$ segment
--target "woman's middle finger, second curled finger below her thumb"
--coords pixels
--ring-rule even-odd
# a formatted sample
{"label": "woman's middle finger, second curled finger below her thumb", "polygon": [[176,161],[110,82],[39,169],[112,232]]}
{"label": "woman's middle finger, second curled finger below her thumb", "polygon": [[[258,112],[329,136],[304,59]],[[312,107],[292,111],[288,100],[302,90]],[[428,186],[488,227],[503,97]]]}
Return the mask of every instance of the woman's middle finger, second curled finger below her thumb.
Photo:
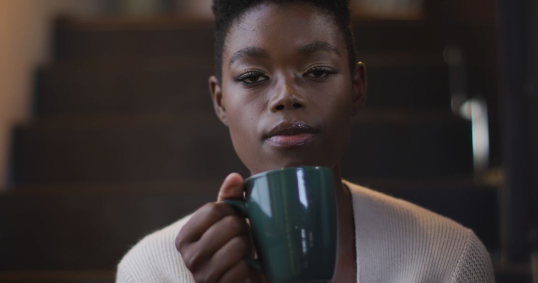
{"label": "woman's middle finger, second curled finger below her thumb", "polygon": [[[202,258],[213,256],[215,252],[237,236],[244,236],[246,239],[246,231],[246,221],[243,218],[227,216],[221,219],[196,242],[195,246],[200,251],[199,256]],[[250,242],[247,243],[250,244]]]}

